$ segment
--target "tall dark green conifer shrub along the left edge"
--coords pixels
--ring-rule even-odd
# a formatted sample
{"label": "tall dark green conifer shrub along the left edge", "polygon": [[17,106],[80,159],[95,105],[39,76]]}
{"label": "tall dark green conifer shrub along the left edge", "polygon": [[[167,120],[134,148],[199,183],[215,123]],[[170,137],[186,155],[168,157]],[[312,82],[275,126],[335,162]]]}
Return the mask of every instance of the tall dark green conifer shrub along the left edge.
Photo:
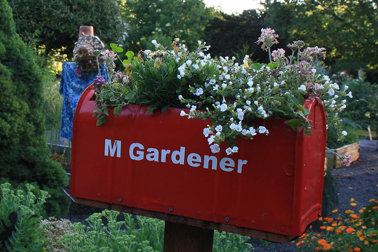
{"label": "tall dark green conifer shrub along the left edge", "polygon": [[36,182],[48,191],[47,215],[68,212],[60,190],[68,178],[62,166],[49,159],[42,112],[41,70],[33,53],[15,33],[11,9],[0,0],[0,178],[16,186]]}

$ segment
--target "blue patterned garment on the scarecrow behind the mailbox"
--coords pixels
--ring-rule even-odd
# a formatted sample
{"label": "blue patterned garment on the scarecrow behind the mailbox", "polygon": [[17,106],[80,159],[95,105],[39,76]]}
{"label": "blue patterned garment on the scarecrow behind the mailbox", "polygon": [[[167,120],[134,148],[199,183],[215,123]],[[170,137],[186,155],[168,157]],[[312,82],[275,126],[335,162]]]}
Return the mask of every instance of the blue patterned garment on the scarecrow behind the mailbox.
{"label": "blue patterned garment on the scarecrow behind the mailbox", "polygon": [[[100,67],[100,72],[105,81],[108,80],[105,64]],[[78,75],[81,75],[80,77]],[[72,124],[77,101],[81,93],[98,76],[96,72],[79,72],[76,62],[63,64],[62,75],[60,76],[59,93],[63,95],[62,119],[60,121],[60,136],[72,141]]]}

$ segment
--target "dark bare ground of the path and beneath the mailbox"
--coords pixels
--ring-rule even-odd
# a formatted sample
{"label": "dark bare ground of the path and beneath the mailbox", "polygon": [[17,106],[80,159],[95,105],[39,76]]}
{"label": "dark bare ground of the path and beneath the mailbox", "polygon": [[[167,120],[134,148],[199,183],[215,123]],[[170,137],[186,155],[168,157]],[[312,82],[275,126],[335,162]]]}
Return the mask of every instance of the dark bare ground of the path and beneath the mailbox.
{"label": "dark bare ground of the path and beneath the mailbox", "polygon": [[[336,185],[336,194],[338,196],[338,204],[331,205],[330,209],[338,209],[339,213],[344,213],[345,210],[353,209],[358,211],[361,207],[370,204],[369,199],[378,198],[378,152],[360,150],[360,157],[350,166],[343,166],[341,168],[330,169],[327,171],[328,175],[334,177],[333,184]],[[332,175],[330,175],[332,174]],[[350,206],[350,199],[355,199],[356,207]],[[72,210],[72,222],[84,222],[91,213],[99,212],[99,208],[91,208],[85,206],[75,206]],[[332,214],[329,211],[329,217],[336,217],[337,214]],[[325,217],[325,216],[324,216]],[[70,218],[70,216],[65,216]],[[271,243],[256,238],[251,238],[249,241],[253,244],[255,252],[293,252],[297,251],[293,243]]]}

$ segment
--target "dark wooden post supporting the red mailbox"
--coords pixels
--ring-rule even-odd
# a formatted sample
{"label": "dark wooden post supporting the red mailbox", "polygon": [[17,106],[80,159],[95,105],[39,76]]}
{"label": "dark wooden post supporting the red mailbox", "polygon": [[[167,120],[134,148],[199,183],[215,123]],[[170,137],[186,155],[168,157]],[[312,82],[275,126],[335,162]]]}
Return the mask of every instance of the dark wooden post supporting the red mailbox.
{"label": "dark wooden post supporting the red mailbox", "polygon": [[212,252],[214,230],[165,221],[164,252]]}

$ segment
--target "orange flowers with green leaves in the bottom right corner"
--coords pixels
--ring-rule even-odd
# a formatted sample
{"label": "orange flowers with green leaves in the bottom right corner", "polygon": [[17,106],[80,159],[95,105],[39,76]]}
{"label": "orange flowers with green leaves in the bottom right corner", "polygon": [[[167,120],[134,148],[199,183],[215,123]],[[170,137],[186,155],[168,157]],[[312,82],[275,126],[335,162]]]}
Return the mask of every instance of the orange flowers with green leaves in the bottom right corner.
{"label": "orange flowers with green leaves in the bottom right corner", "polygon": [[[350,205],[356,207],[353,198]],[[295,243],[303,251],[376,251],[378,249],[378,201],[370,199],[369,206],[358,211],[346,210],[347,217],[319,218],[322,232],[308,232]],[[337,213],[338,210],[332,211]]]}

